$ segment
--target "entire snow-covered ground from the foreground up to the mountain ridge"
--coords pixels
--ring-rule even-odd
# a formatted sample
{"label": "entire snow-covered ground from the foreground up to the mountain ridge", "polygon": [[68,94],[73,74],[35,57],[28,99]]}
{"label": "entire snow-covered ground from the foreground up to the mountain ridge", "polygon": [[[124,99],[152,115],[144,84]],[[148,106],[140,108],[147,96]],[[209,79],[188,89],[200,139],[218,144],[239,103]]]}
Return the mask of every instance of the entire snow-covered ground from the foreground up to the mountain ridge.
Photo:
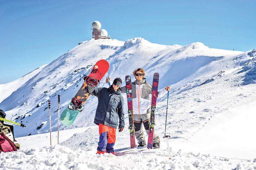
{"label": "entire snow-covered ground from the foreground up to the mountain ridge", "polygon": [[[20,81],[8,91],[0,108],[15,126],[21,150],[0,154],[7,169],[256,169],[256,50],[248,52],[153,44],[142,38],[127,41],[89,40]],[[125,129],[117,132],[115,154],[96,155],[98,127],[93,124],[97,98],[90,97],[74,124],[61,125],[60,145],[49,146],[48,100],[52,101],[52,127],[57,130],[57,94],[62,112],[94,63],[106,59],[106,76],[113,80],[142,67],[146,80],[160,75],[159,89],[172,85],[167,112],[171,136],[168,159],[165,129],[167,96],[158,99],[155,133],[160,149],[129,148],[127,103]],[[108,87],[103,78],[100,87]],[[17,80],[16,80],[17,81]],[[12,83],[12,82],[11,82]],[[5,87],[5,88],[3,88]],[[124,99],[126,96],[124,95]],[[27,136],[29,135],[29,136]],[[56,132],[53,133],[56,143]],[[255,159],[255,160],[254,160]],[[129,160],[129,161],[128,161]],[[254,162],[253,162],[254,161]]]}

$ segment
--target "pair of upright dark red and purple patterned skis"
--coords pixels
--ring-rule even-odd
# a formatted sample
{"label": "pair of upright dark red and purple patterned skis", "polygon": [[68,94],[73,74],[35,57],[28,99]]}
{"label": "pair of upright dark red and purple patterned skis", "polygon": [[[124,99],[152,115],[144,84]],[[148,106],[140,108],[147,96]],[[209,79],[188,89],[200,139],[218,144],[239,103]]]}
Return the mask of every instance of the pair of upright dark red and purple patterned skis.
{"label": "pair of upright dark red and purple patterned skis", "polygon": [[[159,74],[155,73],[153,77],[153,86],[152,86],[151,114],[150,114],[150,124],[149,124],[148,144],[147,144],[148,149],[153,148],[153,135],[154,135],[154,125],[155,125],[155,110],[156,110],[156,104],[157,104],[158,81],[159,81]],[[133,108],[132,108],[132,81],[130,76],[125,76],[125,84],[126,84],[128,114],[129,114],[130,141],[131,141],[131,148],[134,148],[136,147],[136,145],[135,145]]]}

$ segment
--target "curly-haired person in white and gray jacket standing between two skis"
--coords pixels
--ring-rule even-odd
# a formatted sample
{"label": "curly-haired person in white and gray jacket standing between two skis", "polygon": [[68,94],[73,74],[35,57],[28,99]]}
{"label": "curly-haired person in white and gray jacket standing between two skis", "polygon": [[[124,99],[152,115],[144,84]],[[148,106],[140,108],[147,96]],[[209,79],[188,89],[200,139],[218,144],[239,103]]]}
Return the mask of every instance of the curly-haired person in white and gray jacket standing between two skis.
{"label": "curly-haired person in white and gray jacket standing between two skis", "polygon": [[[148,134],[149,123],[150,123],[150,106],[152,94],[152,85],[146,83],[144,79],[145,71],[142,68],[138,68],[133,71],[133,75],[136,80],[132,82],[132,105],[133,105],[133,121],[135,127],[135,137],[138,140],[138,146],[145,146],[146,140],[142,130],[142,124]],[[126,87],[120,87],[122,93],[126,93]],[[167,91],[171,89],[170,86],[166,86],[162,90],[158,91],[158,97],[164,96]],[[153,137],[153,147],[160,147],[160,139],[154,134]]]}

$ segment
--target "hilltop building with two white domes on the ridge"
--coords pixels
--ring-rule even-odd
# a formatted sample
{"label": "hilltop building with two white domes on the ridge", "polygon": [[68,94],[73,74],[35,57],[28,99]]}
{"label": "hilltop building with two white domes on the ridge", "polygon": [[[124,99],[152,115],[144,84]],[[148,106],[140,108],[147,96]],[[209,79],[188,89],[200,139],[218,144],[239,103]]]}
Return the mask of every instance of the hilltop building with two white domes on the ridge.
{"label": "hilltop building with two white domes on the ridge", "polygon": [[101,23],[99,21],[94,21],[93,24],[91,24],[91,27],[93,29],[93,39],[110,39],[110,36],[108,36],[108,31],[106,29],[101,29]]}

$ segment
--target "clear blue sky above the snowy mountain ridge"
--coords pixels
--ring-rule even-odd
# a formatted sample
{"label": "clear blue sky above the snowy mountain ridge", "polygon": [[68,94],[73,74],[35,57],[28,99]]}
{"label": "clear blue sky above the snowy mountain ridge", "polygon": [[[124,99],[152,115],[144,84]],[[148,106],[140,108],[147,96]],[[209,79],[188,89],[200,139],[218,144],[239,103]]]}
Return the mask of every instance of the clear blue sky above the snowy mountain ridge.
{"label": "clear blue sky above the snowy mountain ridge", "polygon": [[113,39],[211,48],[256,48],[255,0],[0,0],[0,84],[91,38],[98,20]]}

